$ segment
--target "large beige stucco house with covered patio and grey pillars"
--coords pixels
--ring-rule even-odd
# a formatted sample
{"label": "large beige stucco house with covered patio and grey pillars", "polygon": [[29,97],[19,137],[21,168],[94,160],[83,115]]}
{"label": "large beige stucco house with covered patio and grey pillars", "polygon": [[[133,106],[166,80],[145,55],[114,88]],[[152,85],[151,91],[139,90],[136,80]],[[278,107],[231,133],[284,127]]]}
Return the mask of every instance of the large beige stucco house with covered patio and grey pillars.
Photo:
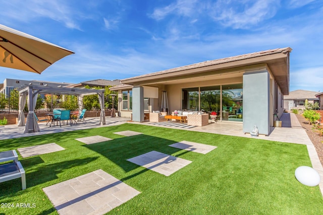
{"label": "large beige stucco house with covered patio and grey pillars", "polygon": [[259,134],[267,135],[289,94],[291,51],[287,47],[209,60],[123,79],[123,85],[110,89],[118,91],[121,116],[132,114],[133,121],[160,110],[166,91],[170,112],[216,111],[220,120],[230,121],[243,110],[243,131],[250,133],[256,125]]}

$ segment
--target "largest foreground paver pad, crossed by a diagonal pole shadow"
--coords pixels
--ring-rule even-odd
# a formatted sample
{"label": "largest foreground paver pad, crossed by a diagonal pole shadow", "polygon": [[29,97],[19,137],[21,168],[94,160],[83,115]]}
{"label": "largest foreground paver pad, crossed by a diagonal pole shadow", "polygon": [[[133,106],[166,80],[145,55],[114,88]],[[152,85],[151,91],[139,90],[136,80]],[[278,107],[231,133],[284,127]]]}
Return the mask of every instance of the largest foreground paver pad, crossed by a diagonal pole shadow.
{"label": "largest foreground paver pad, crossed by a diagonal pole shadow", "polygon": [[61,215],[104,214],[140,193],[101,169],[42,190]]}

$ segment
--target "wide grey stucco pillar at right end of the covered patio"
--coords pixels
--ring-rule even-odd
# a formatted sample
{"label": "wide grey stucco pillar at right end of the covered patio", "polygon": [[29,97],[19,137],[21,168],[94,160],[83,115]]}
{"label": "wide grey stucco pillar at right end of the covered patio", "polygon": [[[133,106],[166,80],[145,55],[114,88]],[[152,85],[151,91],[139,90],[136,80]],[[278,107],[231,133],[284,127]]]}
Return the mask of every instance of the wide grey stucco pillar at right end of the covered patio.
{"label": "wide grey stucco pillar at right end of the covered patio", "polygon": [[270,132],[270,75],[267,70],[243,75],[243,132],[254,125],[259,134]]}

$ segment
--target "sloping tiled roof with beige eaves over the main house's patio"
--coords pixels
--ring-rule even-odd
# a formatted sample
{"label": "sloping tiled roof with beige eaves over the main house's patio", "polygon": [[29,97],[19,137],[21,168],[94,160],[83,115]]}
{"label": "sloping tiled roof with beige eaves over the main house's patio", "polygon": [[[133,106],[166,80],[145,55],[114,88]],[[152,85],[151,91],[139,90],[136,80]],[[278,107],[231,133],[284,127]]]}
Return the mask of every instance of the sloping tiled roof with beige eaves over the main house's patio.
{"label": "sloping tiled roof with beige eaves over the main house's patio", "polygon": [[289,52],[292,49],[278,48],[266,51],[259,51],[250,54],[243,54],[233,57],[226,57],[216,60],[194,63],[191,65],[157,71],[146,75],[123,79],[123,84],[146,84],[155,81],[163,83],[167,80],[178,79],[179,77],[196,76],[212,72],[221,73],[224,69],[237,68],[248,65],[265,63],[274,75],[284,95],[289,93]]}

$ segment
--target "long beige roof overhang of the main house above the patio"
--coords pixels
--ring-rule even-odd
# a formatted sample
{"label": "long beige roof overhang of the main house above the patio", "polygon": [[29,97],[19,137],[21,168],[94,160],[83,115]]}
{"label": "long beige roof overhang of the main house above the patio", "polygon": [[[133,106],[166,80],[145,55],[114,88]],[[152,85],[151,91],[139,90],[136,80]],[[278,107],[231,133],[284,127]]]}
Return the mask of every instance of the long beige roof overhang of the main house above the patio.
{"label": "long beige roof overhang of the main house above the patio", "polygon": [[[290,48],[279,49],[277,52],[263,52],[265,54],[242,55],[246,57],[231,57],[214,61],[205,61],[188,66],[168,69],[121,80],[123,84],[153,85],[153,84],[173,84],[174,82],[185,82],[189,79],[199,79],[204,77],[230,75],[243,73],[255,67],[269,68],[277,84],[280,86],[283,95],[289,94],[289,52]],[[258,52],[259,53],[259,52]],[[187,81],[188,82],[188,81]]]}

